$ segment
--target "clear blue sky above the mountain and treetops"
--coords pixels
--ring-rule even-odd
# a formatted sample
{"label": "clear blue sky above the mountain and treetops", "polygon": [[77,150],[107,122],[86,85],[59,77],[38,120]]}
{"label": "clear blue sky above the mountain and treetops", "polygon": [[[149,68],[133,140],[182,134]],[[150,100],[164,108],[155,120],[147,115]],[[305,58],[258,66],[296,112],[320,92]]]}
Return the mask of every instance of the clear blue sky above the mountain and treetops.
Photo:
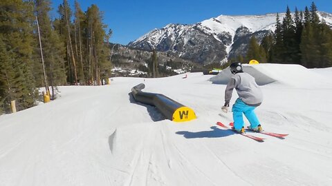
{"label": "clear blue sky above the mountain and treetops", "polygon": [[[52,17],[57,17],[57,7],[63,0],[53,2]],[[74,0],[68,0],[71,7]],[[224,15],[247,15],[293,12],[295,7],[304,10],[312,0],[78,0],[83,11],[91,4],[104,12],[104,23],[113,30],[112,43],[127,45],[130,41],[154,28],[163,28],[169,23],[192,24]],[[332,13],[332,0],[314,1],[318,10]]]}

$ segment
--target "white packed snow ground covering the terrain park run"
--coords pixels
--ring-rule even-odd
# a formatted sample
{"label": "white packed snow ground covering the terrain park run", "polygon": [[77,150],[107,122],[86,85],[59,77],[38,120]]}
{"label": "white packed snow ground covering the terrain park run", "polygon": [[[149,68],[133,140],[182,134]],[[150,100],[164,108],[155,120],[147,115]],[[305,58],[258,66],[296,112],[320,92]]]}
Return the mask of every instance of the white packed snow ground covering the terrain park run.
{"label": "white packed snow ground covering the terrain park run", "polygon": [[[332,185],[332,68],[244,70],[264,92],[261,125],[285,139],[250,133],[266,138],[258,143],[215,125],[232,122],[221,111],[228,69],[186,79],[117,77],[59,87],[55,101],[0,116],[0,185]],[[174,123],[137,103],[131,88],[139,83],[197,118]]]}

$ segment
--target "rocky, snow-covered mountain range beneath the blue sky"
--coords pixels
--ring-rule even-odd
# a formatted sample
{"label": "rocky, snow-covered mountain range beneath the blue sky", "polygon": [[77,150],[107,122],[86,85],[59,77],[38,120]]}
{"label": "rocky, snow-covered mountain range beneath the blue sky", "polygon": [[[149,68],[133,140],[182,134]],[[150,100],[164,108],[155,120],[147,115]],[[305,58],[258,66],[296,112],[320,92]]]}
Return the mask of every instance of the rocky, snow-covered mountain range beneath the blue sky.
{"label": "rocky, snow-covered mountain range beneath the blue sky", "polygon": [[[318,12],[320,19],[332,25],[332,14]],[[285,13],[279,14],[280,20]],[[261,41],[275,31],[277,14],[227,16],[221,15],[194,25],[169,24],[154,29],[129,43],[133,48],[172,52],[198,63],[223,62],[245,54],[252,35]]]}

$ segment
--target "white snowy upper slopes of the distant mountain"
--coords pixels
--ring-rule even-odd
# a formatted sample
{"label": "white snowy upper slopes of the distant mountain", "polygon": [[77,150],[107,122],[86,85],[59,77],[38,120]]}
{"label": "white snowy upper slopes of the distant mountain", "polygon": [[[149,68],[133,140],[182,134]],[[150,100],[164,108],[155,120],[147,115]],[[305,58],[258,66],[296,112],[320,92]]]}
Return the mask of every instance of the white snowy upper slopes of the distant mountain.
{"label": "white snowy upper slopes of the distant mountain", "polygon": [[[320,19],[324,19],[326,23],[332,25],[332,15],[326,12],[317,12]],[[282,20],[285,17],[285,13],[279,13],[279,19]],[[292,14],[293,15],[293,14]],[[293,15],[294,16],[294,15]],[[243,15],[243,16],[228,16],[220,15],[216,18],[207,19],[196,23],[194,25],[181,25],[181,24],[168,24],[164,28],[154,29],[142,37],[133,41],[133,44],[139,43],[143,40],[148,40],[151,45],[156,45],[162,41],[163,37],[171,37],[172,41],[175,41],[176,35],[181,35],[181,32],[187,32],[188,30],[198,27],[214,36],[227,32],[234,38],[235,31],[240,27],[246,27],[251,32],[257,32],[259,30],[275,30],[277,14],[264,14],[264,15]],[[174,29],[174,27],[176,29]],[[216,37],[216,40],[220,39]]]}

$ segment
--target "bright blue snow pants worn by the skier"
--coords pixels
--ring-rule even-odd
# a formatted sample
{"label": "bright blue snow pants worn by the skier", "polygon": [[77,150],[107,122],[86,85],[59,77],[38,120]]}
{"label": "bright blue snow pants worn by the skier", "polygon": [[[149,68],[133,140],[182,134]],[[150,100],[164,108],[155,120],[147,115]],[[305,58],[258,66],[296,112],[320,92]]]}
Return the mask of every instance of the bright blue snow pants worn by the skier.
{"label": "bright blue snow pants worn by the skier", "polygon": [[235,101],[232,107],[235,130],[240,130],[244,125],[242,113],[248,119],[250,127],[255,128],[259,125],[259,120],[254,112],[255,108],[256,107],[246,105],[241,99]]}

